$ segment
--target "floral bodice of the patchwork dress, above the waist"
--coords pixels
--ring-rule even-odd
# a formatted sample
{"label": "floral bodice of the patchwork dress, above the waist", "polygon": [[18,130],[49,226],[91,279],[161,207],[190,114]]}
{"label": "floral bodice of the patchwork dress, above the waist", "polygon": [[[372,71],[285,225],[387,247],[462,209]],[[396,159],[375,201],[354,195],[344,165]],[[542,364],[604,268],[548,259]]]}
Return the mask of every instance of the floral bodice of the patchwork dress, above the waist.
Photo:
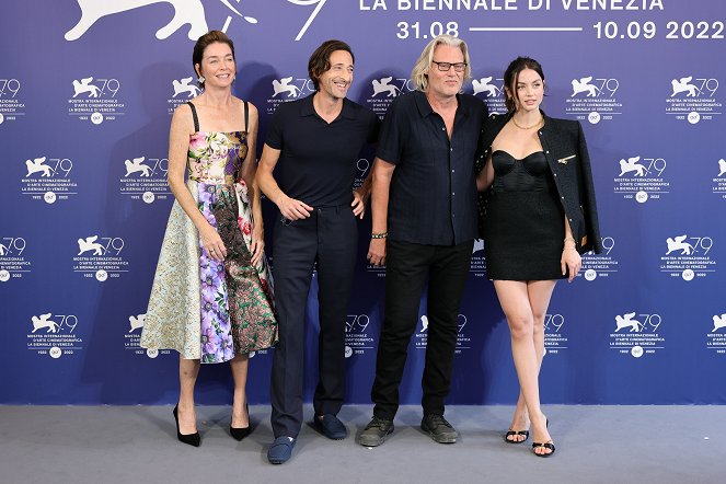
{"label": "floral bodice of the patchwork dress, above the waist", "polygon": [[245,131],[197,131],[189,136],[189,180],[231,185],[241,177],[247,155]]}

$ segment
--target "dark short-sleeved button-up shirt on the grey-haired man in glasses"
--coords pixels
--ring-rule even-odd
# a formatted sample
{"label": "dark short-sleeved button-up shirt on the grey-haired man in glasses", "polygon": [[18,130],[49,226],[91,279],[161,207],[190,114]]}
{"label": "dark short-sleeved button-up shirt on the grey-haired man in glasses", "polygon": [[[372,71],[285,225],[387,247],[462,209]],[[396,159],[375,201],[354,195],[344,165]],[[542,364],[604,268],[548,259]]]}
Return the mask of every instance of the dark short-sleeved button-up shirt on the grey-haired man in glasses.
{"label": "dark short-sleeved button-up shirt on the grey-haired man in glasses", "polygon": [[389,194],[389,239],[454,245],[475,239],[474,161],[486,105],[458,94],[451,140],[443,118],[420,91],[389,106],[376,155],[395,164]]}

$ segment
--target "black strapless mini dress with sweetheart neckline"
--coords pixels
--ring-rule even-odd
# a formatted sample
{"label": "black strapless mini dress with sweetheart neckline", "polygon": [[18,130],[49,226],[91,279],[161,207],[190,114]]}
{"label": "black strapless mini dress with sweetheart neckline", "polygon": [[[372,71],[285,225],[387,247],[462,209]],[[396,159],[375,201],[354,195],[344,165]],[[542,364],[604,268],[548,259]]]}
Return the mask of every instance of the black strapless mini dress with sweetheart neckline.
{"label": "black strapless mini dress with sweetheart neckline", "polygon": [[493,280],[561,279],[565,214],[542,151],[522,160],[492,153],[486,207],[486,272]]}

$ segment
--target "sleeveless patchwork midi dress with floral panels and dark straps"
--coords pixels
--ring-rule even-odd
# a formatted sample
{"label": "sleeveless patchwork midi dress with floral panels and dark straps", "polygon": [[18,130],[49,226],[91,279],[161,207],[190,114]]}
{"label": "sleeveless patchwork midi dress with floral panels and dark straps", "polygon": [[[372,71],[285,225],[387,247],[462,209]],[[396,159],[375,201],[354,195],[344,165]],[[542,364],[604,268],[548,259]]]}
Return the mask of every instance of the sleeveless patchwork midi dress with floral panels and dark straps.
{"label": "sleeveless patchwork midi dress with floral panels and dark straps", "polygon": [[[227,257],[209,257],[199,232],[175,200],[159,255],[141,347],[171,348],[182,358],[221,362],[277,343],[273,279],[265,257],[251,263],[252,212],[240,176],[246,131],[189,136],[186,186],[217,229]],[[244,104],[247,126],[247,104]]]}

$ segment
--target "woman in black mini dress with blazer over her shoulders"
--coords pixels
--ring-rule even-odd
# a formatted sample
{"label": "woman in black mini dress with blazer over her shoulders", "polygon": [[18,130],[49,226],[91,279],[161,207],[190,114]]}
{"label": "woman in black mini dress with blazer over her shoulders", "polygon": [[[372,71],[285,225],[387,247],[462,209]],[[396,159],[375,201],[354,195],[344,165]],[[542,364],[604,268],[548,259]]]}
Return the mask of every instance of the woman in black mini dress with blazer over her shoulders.
{"label": "woman in black mini dress with blazer over her shoulders", "polygon": [[540,408],[539,372],[544,355],[544,315],[557,279],[569,281],[580,254],[601,251],[587,146],[578,122],[540,111],[544,74],[528,57],[504,74],[506,115],[484,125],[484,169],[476,184],[486,197],[486,268],[511,334],[519,399],[505,435],[521,443],[532,427],[534,454],[555,451]]}

